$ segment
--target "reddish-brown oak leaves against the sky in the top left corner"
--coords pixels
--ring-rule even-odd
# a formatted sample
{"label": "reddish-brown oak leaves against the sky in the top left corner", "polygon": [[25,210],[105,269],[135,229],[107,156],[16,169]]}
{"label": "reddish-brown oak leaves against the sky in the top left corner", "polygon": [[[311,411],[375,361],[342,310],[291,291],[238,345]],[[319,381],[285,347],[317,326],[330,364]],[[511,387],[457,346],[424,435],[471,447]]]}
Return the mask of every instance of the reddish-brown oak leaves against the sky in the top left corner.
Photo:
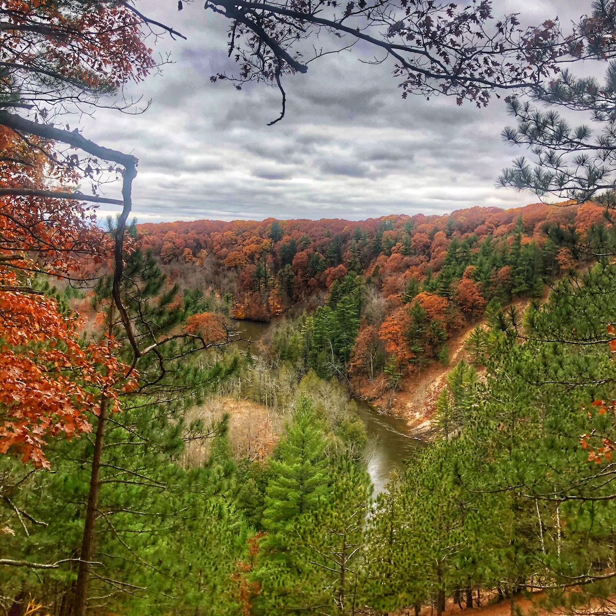
{"label": "reddish-brown oak leaves against the sky in the top left corner", "polygon": [[58,2],[9,0],[2,8],[3,19],[14,26],[2,29],[2,52],[22,97],[36,97],[43,89],[55,103],[59,98],[53,94],[68,88],[81,91],[83,102],[89,100],[86,93],[110,94],[139,81],[154,65],[139,18],[121,3],[87,2],[79,10],[62,10]]}

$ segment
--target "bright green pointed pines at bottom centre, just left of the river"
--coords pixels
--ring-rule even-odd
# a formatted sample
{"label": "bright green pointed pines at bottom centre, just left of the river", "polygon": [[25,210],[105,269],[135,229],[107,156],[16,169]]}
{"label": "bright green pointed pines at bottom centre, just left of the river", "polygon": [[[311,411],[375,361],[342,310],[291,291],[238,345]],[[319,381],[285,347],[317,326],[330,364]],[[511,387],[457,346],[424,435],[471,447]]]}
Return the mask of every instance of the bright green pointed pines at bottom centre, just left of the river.
{"label": "bright green pointed pines at bottom centre, just left of the river", "polygon": [[351,614],[363,598],[370,479],[352,447],[328,454],[327,429],[301,395],[269,463],[255,614]]}

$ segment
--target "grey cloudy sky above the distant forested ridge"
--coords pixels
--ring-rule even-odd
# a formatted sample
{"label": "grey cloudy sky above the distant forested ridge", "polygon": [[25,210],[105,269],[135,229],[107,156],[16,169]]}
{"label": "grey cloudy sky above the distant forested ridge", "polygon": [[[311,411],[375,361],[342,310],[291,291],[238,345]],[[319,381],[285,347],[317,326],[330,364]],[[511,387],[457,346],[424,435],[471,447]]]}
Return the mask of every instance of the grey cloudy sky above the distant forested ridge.
{"label": "grey cloudy sky above the distant forested ridge", "polygon": [[[590,0],[494,5],[495,13],[520,12],[532,23],[555,15],[567,22],[590,10]],[[97,110],[79,127],[87,138],[139,158],[133,187],[139,222],[361,220],[537,201],[532,193],[495,187],[500,170],[524,154],[501,140],[512,123],[502,100],[482,109],[471,102],[458,107],[450,97],[403,100],[392,64],[368,65],[351,51],[288,76],[285,119],[267,126],[280,112],[276,89],[237,91],[209,79],[233,70],[228,20],[200,3],[181,12],[172,0],[140,0],[137,7],[187,41],[162,36],[155,55],[169,53],[172,63],[126,89],[142,106],[151,100],[147,110]],[[115,197],[116,188],[107,194]],[[100,208],[101,216],[113,213],[113,206]]]}

